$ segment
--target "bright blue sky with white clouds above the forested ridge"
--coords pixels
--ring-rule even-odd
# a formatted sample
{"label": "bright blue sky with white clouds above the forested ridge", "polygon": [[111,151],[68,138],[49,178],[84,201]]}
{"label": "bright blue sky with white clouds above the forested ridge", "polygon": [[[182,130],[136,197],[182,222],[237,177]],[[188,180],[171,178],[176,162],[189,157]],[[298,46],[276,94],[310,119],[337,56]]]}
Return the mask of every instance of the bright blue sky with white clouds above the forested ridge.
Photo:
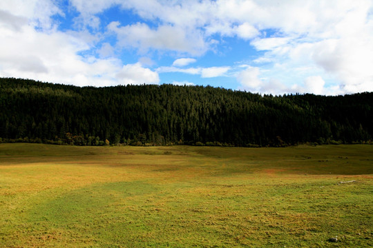
{"label": "bright blue sky with white clouds above the forested ridge", "polygon": [[0,76],[373,92],[373,0],[0,1]]}

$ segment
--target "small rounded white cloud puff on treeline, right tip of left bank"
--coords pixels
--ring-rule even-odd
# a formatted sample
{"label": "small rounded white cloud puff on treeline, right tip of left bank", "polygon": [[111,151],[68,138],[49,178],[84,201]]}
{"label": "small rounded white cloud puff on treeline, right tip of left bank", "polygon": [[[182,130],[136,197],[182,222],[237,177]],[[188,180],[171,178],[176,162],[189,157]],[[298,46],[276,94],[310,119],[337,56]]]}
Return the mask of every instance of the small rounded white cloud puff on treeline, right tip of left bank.
{"label": "small rounded white cloud puff on treeline, right tip of left bank", "polygon": [[149,68],[143,68],[141,63],[124,65],[122,70],[116,74],[117,79],[121,84],[157,84],[160,83],[160,78],[157,72],[153,72]]}

